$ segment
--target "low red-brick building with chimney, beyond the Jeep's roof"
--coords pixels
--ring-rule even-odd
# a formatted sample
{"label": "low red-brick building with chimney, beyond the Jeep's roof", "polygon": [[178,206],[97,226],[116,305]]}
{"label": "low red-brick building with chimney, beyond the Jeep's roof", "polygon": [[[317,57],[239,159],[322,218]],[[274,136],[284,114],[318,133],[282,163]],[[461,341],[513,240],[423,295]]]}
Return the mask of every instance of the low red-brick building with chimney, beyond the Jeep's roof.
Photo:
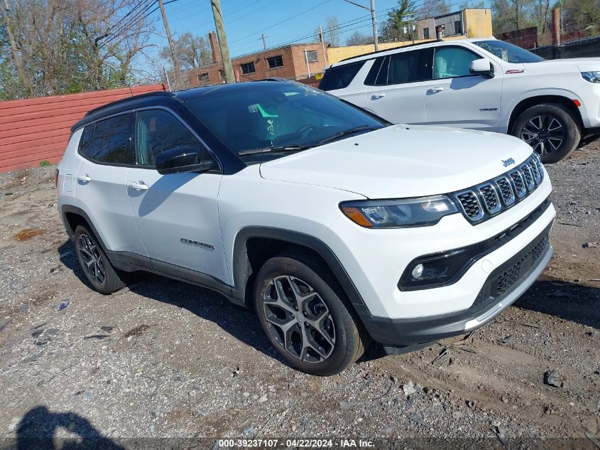
{"label": "low red-brick building with chimney, beyond the Jeep's roof", "polygon": [[[186,70],[182,77],[187,87],[215,85],[224,82],[225,75],[217,34],[208,35],[213,63]],[[236,80],[261,80],[278,77],[299,80],[321,73],[327,66],[327,45],[299,43],[239,56],[231,60]]]}

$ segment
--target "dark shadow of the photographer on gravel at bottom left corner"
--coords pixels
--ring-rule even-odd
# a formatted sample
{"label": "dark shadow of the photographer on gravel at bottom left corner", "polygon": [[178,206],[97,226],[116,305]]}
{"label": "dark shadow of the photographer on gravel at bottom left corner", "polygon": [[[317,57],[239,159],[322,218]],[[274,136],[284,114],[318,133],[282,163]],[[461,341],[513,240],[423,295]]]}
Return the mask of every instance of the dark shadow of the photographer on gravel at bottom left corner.
{"label": "dark shadow of the photographer on gravel at bottom left corner", "polygon": [[[68,431],[68,438],[56,436],[59,429]],[[61,435],[65,436],[64,430]],[[18,450],[124,450],[92,427],[87,419],[74,412],[50,412],[45,406],[30,409],[16,429]]]}

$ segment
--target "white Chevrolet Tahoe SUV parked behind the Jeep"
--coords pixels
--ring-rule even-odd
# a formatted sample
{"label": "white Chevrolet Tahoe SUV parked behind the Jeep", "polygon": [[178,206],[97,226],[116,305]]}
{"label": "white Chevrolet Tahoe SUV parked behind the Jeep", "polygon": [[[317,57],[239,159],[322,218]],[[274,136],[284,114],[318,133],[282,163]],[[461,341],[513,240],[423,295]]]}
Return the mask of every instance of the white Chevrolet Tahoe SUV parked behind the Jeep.
{"label": "white Chevrolet Tahoe SUV parked behind the Jeep", "polygon": [[493,38],[349,58],[326,70],[319,87],[395,124],[512,134],[544,163],[600,133],[600,58],[544,60]]}

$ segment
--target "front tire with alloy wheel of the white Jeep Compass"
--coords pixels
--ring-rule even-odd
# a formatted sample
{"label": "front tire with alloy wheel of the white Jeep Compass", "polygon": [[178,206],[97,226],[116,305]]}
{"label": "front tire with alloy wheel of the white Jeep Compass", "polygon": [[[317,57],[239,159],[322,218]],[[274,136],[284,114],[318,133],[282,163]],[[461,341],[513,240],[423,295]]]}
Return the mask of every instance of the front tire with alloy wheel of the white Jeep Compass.
{"label": "front tire with alloy wheel of the white Jeep Compass", "polygon": [[[368,346],[369,337],[341,286],[311,255],[285,252],[269,259],[256,276],[254,302],[273,347],[302,372],[335,375]],[[284,336],[288,336],[287,346]]]}

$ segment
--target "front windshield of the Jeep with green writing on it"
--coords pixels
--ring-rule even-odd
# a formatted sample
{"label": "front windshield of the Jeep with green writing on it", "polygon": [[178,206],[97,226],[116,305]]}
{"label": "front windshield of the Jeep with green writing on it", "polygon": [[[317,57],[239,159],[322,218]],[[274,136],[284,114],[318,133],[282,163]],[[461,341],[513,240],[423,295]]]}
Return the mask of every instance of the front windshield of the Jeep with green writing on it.
{"label": "front windshield of the Jeep with green writing on it", "polygon": [[[386,124],[307,85],[248,82],[215,89],[187,107],[244,162],[273,159]],[[253,152],[251,150],[263,149]],[[276,154],[278,152],[278,154]]]}

